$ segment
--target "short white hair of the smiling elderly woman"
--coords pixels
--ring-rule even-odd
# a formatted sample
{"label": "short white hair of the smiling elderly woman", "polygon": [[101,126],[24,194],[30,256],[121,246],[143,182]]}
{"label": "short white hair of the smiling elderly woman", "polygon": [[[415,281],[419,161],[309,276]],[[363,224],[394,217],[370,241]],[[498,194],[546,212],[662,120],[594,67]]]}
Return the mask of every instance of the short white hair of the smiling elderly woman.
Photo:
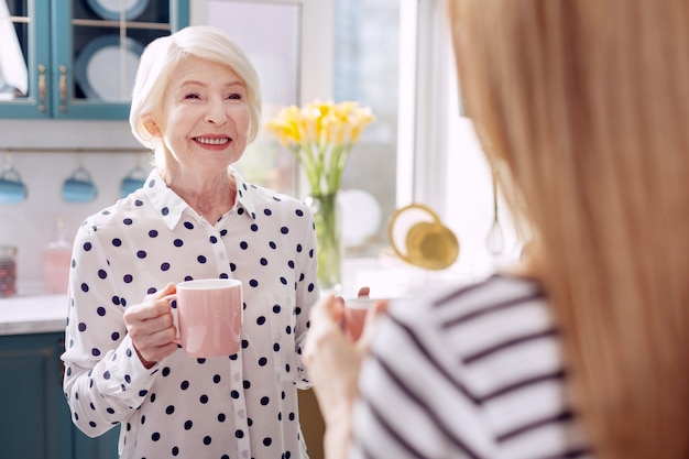
{"label": "short white hair of the smiling elderly woman", "polygon": [[167,83],[176,64],[185,56],[219,63],[230,67],[247,87],[250,125],[248,142],[252,142],[261,125],[261,87],[255,68],[241,50],[222,31],[195,25],[151,42],[141,55],[134,79],[129,123],[132,133],[144,146],[156,149],[160,140],[152,135],[144,123],[160,109]]}

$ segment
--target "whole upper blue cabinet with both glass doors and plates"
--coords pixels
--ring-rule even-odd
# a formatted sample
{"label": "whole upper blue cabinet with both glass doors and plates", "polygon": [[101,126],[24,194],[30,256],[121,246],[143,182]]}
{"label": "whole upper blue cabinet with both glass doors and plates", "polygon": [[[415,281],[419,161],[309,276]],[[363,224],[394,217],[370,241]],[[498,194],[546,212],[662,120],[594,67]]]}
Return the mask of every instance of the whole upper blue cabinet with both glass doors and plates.
{"label": "whole upper blue cabinet with both glass doors and plates", "polygon": [[143,47],[188,25],[189,0],[113,4],[7,1],[11,25],[0,11],[0,118],[127,119]]}

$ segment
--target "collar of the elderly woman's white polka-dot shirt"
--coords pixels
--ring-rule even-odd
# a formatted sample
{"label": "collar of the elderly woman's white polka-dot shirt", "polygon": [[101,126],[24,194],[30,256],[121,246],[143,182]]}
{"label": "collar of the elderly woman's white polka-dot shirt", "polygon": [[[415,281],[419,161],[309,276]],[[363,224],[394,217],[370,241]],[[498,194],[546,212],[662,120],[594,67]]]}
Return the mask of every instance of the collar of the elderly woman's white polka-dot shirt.
{"label": "collar of the elderly woman's white polka-dot shirt", "polygon": [[[237,196],[232,210],[236,211],[238,207],[243,207],[245,210],[243,214],[249,218],[255,219],[254,186],[244,182],[244,178],[234,168],[230,168],[230,172],[237,183]],[[167,186],[157,170],[153,170],[149,174],[143,192],[171,230],[177,226],[184,211],[190,208],[184,199]]]}

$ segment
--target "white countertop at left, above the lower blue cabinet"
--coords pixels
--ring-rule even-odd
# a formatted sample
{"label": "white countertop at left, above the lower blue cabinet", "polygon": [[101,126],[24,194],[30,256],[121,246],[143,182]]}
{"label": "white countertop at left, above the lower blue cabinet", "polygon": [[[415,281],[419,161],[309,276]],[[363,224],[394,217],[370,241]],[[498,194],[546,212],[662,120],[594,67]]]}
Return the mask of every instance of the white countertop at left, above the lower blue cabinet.
{"label": "white countertop at left, above the lower blue cabinet", "polygon": [[0,335],[64,331],[67,295],[15,295],[0,298]]}

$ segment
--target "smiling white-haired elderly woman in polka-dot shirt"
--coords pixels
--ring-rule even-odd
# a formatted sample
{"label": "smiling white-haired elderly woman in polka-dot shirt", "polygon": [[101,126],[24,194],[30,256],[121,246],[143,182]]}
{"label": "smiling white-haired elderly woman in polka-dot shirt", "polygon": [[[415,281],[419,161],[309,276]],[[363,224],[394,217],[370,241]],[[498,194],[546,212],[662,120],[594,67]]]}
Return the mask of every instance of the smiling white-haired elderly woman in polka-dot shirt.
{"label": "smiling white-haired elderly woman in polka-dot shirt", "polygon": [[[296,392],[318,297],[314,222],[231,167],[260,113],[253,66],[216,29],[184,29],[141,56],[130,123],[156,167],[78,231],[63,354],[74,423],[89,436],[121,424],[123,458],[307,457]],[[188,357],[168,296],[228,277],[243,283],[241,351]]]}

